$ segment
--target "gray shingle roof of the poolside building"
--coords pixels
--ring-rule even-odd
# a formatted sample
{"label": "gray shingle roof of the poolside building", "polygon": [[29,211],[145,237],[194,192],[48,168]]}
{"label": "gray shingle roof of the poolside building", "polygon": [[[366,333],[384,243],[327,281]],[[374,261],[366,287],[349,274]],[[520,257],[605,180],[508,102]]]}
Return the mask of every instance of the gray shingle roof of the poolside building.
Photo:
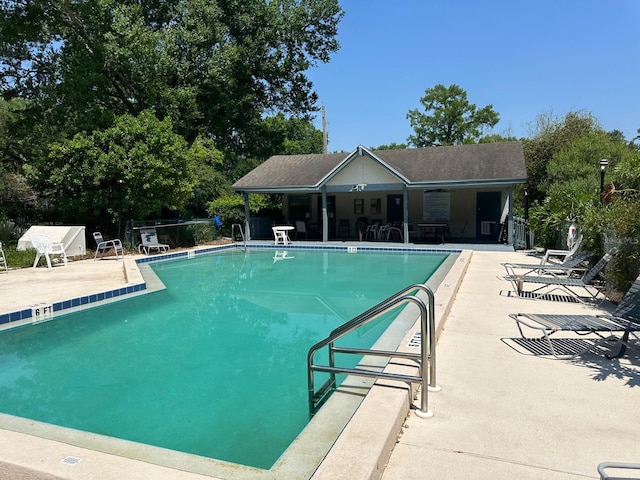
{"label": "gray shingle roof of the poolside building", "polygon": [[[360,147],[359,147],[360,148]],[[238,180],[237,191],[318,189],[335,169],[358,154],[275,155]],[[527,177],[521,142],[450,147],[367,150],[408,180],[409,186],[524,183]]]}

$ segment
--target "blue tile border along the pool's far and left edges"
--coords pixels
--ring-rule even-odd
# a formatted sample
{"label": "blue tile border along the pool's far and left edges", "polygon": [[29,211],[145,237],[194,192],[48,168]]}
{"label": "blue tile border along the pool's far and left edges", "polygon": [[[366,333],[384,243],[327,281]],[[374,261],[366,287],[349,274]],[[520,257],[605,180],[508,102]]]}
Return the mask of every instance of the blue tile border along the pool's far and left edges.
{"label": "blue tile border along the pool's far and left edges", "polygon": [[[389,246],[372,246],[372,245],[274,245],[273,243],[256,243],[248,244],[246,247],[241,243],[232,243],[228,245],[219,245],[207,248],[201,248],[198,250],[183,250],[174,253],[165,253],[159,255],[153,255],[148,257],[142,257],[136,259],[136,264],[155,263],[167,260],[176,260],[183,258],[194,258],[202,255],[209,255],[211,253],[225,251],[225,250],[325,250],[336,252],[407,252],[407,253],[444,253],[444,254],[456,254],[462,252],[461,249],[452,248],[424,248],[424,247],[389,247]],[[81,297],[72,298],[69,300],[63,300],[60,302],[54,302],[53,313],[60,313],[63,310],[70,308],[77,308],[82,306],[89,306],[93,303],[101,302],[103,300],[109,300],[116,297],[139,293],[146,290],[146,282],[138,283],[135,285],[127,285],[126,287],[120,287],[113,290],[107,290],[105,292],[95,293],[91,295],[83,295]],[[35,305],[34,305],[35,306]],[[10,313],[0,314],[0,325],[6,325],[9,323],[17,322],[20,320],[30,320],[33,317],[32,308],[26,308],[24,310],[18,310]]]}

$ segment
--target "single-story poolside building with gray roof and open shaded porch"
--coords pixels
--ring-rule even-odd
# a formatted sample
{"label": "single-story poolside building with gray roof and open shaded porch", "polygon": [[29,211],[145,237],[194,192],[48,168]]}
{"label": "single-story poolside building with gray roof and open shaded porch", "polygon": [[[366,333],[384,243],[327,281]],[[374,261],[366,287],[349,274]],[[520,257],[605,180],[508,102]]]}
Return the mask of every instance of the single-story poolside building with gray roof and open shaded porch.
{"label": "single-story poolside building with gray roof and open shaded porch", "polygon": [[[409,242],[513,243],[513,188],[526,181],[521,142],[275,155],[238,180],[245,238],[272,238],[274,219],[251,218],[249,195],[281,194],[278,224],[305,236]],[[368,231],[366,227],[369,227]]]}

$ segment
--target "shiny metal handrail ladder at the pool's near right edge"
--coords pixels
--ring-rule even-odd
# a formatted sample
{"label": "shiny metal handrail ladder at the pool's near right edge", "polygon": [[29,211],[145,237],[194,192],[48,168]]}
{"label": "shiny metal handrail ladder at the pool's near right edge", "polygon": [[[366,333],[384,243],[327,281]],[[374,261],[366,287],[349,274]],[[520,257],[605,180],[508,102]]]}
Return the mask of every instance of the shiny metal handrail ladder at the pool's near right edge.
{"label": "shiny metal handrail ladder at the pool's near right edge", "polygon": [[[415,295],[416,290],[421,290],[427,295],[428,306],[424,301]],[[413,293],[412,293],[413,292]],[[334,342],[353,332],[359,327],[379,318],[381,315],[401,306],[413,303],[420,310],[420,353],[394,352],[384,350],[369,350],[361,348],[337,347]],[[317,365],[314,363],[314,355],[322,348],[329,350],[329,365]],[[377,370],[367,370],[364,368],[346,368],[335,365],[335,354],[346,353],[355,355],[373,355],[389,358],[407,358],[415,360],[418,364],[419,375],[403,375],[397,373],[381,372]],[[329,379],[318,389],[315,388],[314,372],[329,373]],[[318,409],[336,390],[336,373],[343,373],[356,376],[387,378],[412,383],[420,383],[422,395],[420,407],[415,407],[416,414],[422,418],[429,418],[433,413],[429,410],[428,391],[438,391],[440,387],[436,384],[436,342],[435,342],[435,315],[434,315],[434,294],[426,285],[413,284],[386,300],[380,302],[357,317],[349,320],[331,332],[331,334],[316,343],[309,349],[307,354],[307,375],[309,393],[309,416],[313,417]]]}

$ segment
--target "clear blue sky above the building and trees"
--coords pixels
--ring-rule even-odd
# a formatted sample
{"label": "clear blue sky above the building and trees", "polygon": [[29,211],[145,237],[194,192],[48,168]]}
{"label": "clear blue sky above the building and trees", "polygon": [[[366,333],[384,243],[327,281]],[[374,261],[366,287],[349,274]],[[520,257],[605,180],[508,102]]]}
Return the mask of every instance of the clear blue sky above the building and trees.
{"label": "clear blue sky above the building and trees", "polygon": [[[406,143],[425,90],[457,84],[500,115],[493,133],[535,132],[540,115],[593,114],[640,128],[638,0],[342,0],[340,50],[308,74],[329,152]],[[314,122],[322,128],[321,115]]]}

